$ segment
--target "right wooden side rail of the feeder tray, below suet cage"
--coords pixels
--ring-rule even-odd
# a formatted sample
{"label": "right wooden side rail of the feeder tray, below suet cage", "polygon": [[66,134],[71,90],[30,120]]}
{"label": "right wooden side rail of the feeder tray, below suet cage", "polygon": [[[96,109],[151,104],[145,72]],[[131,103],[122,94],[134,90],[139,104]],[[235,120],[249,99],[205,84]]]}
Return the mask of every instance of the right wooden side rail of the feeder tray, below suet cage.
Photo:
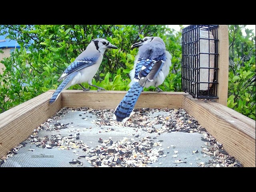
{"label": "right wooden side rail of the feeder tray, below suet cage", "polygon": [[255,121],[215,102],[184,95],[182,108],[223,144],[244,167],[255,167]]}

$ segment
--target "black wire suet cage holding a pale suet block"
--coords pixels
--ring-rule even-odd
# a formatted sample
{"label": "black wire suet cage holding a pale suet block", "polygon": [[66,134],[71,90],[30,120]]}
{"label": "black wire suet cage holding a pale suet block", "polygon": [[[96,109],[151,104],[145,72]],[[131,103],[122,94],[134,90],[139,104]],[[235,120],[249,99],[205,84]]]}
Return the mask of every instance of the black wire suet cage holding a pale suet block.
{"label": "black wire suet cage holding a pale suet block", "polygon": [[214,99],[218,85],[218,25],[182,29],[182,90]]}

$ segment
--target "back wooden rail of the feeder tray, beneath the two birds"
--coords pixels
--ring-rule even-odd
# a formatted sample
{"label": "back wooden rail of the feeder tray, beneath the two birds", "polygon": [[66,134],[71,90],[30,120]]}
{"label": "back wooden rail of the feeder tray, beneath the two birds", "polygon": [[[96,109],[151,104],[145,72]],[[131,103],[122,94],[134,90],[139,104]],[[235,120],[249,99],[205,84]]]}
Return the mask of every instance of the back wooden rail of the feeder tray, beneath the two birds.
{"label": "back wooden rail of the feeder tray, beneath the two birds", "polygon": [[[62,107],[115,109],[127,91],[62,91]],[[142,92],[136,108],[181,108],[184,92]]]}

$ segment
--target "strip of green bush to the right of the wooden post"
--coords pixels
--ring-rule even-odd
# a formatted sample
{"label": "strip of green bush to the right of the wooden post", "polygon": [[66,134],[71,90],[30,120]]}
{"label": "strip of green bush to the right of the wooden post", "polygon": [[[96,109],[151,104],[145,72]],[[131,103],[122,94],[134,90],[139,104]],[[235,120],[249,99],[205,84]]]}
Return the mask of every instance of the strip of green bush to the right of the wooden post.
{"label": "strip of green bush to the right of the wooden post", "polygon": [[228,107],[255,120],[255,34],[229,26]]}

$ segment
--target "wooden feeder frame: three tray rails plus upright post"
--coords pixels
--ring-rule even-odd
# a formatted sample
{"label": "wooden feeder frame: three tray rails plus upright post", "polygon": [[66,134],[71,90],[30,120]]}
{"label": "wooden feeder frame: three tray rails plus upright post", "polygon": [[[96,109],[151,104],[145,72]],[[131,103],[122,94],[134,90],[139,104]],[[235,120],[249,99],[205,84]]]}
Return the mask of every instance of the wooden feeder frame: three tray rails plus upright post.
{"label": "wooden feeder frame: three tray rails plus upright post", "polygon": [[[142,92],[135,108],[182,108],[222,143],[244,167],[255,167],[255,121],[228,108],[228,26],[218,26],[218,99],[193,98],[185,92]],[[49,90],[0,114],[0,157],[26,140],[62,107],[114,109],[126,91],[65,90],[53,104]]]}

